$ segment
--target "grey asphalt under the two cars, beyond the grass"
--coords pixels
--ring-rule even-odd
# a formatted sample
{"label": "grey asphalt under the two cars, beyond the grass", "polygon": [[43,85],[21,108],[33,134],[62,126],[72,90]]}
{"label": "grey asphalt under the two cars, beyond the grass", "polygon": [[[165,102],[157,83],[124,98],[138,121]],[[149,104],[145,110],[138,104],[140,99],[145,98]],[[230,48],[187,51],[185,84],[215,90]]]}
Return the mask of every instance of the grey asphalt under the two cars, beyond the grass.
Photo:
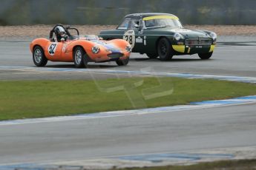
{"label": "grey asphalt under the two cars, beyond the grass", "polygon": [[[34,67],[32,55],[27,42],[0,42],[0,67]],[[205,75],[256,76],[255,42],[227,43],[217,47],[211,60],[202,61],[197,55],[174,56],[171,61],[148,59],[145,55],[131,54],[131,60],[126,67],[117,67],[115,62],[89,65],[91,69],[113,69],[151,72],[181,72]],[[74,68],[73,63],[48,62],[47,68]],[[27,70],[1,70],[0,79],[80,79],[91,78],[85,72],[72,73],[42,73],[27,72]],[[95,74],[99,78],[115,75]]]}

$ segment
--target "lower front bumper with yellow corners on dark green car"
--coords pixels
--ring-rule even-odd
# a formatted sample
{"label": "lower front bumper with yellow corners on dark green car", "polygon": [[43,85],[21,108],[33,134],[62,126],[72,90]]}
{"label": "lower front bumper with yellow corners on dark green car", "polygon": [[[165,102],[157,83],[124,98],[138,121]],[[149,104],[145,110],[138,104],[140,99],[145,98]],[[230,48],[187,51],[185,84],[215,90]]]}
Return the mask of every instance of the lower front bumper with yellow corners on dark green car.
{"label": "lower front bumper with yellow corners on dark green car", "polygon": [[213,52],[214,47],[215,45],[172,45],[172,49],[180,55]]}

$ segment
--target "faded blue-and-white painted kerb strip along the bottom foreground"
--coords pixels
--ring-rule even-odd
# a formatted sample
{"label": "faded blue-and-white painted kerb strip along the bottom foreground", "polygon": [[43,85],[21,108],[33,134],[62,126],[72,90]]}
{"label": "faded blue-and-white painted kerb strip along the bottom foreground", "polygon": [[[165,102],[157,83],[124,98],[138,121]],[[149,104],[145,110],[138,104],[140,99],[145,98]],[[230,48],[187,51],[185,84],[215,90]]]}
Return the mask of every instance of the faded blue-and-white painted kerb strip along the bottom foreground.
{"label": "faded blue-and-white painted kerb strip along the bottom foreground", "polygon": [[[209,150],[196,150],[180,153],[158,153],[158,154],[137,154],[137,155],[120,155],[116,157],[93,158],[88,160],[68,160],[57,161],[54,163],[18,163],[14,165],[0,166],[1,169],[113,169],[128,167],[145,167],[145,166],[168,166],[168,165],[191,165],[194,163],[211,162],[217,160],[242,160],[256,157],[255,147],[237,147],[222,148]],[[61,165],[61,166],[60,166]]]}

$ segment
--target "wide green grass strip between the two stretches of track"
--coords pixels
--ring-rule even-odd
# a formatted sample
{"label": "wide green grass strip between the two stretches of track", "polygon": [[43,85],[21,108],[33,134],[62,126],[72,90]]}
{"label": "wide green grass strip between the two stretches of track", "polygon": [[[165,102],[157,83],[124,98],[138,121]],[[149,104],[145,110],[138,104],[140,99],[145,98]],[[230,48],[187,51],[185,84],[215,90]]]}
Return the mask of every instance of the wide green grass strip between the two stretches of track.
{"label": "wide green grass strip between the two stretches of track", "polygon": [[256,95],[253,84],[184,78],[0,81],[0,120],[187,104]]}

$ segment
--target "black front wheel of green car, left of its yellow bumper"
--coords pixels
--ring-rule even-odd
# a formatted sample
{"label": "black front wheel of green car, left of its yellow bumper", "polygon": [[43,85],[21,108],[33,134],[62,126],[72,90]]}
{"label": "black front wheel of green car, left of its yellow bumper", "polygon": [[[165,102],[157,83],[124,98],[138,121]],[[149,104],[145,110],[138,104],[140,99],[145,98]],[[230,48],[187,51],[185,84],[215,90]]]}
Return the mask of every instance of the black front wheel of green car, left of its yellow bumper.
{"label": "black front wheel of green car, left of its yellow bumper", "polygon": [[161,38],[157,44],[157,53],[161,61],[171,60],[174,55],[174,51],[171,48],[171,43],[167,38]]}

